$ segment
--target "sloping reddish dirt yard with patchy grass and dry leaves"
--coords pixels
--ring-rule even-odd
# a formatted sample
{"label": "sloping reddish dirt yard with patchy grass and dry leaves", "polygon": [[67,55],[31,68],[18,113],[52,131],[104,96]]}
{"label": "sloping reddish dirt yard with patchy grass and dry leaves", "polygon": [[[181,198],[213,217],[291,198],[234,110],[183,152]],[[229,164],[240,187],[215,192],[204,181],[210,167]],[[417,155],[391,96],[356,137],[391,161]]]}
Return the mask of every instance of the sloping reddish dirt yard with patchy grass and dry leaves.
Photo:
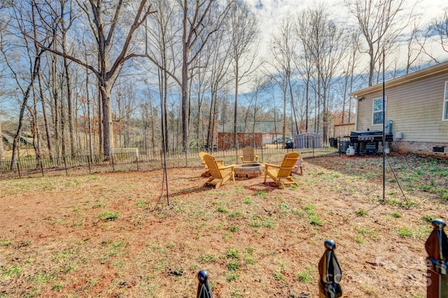
{"label": "sloping reddish dirt yard with patchy grass and dry leaves", "polygon": [[343,297],[426,297],[448,162],[391,157],[383,203],[381,164],[305,159],[285,189],[169,169],[169,205],[162,171],[0,180],[0,297],[196,297],[200,269],[214,297],[318,297],[325,239]]}

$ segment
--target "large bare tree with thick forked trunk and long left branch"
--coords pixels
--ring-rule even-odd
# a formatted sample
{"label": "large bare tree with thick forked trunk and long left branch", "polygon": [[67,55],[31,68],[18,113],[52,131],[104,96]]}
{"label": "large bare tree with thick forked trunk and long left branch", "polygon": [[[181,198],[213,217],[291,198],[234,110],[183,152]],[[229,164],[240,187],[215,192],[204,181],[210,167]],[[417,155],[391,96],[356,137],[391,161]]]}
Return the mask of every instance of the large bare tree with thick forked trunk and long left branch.
{"label": "large bare tree with thick forked trunk and long left branch", "polygon": [[[137,29],[144,24],[146,17],[155,13],[151,8],[148,0],[141,0],[134,10],[133,19],[129,15],[123,13],[124,0],[118,0],[118,3],[109,3],[104,0],[89,0],[88,2],[78,5],[83,10],[87,22],[90,27],[90,34],[94,37],[98,51],[98,65],[95,66],[87,61],[83,61],[81,57],[69,55],[66,52],[55,50],[53,48],[41,47],[50,52],[54,52],[66,59],[80,64],[90,69],[97,76],[99,92],[102,99],[102,115],[103,115],[103,150],[105,159],[109,159],[113,153],[113,123],[111,108],[111,90],[113,81],[120,73],[123,64],[133,57],[144,57],[144,54],[137,54],[131,50],[131,41]],[[130,9],[126,9],[129,12]],[[129,20],[132,20],[129,22]],[[118,24],[123,24],[120,30],[117,30]],[[125,28],[124,25],[128,27]],[[123,34],[123,32],[126,32]],[[113,55],[113,49],[118,49],[118,54]],[[112,60],[112,61],[111,61]]]}

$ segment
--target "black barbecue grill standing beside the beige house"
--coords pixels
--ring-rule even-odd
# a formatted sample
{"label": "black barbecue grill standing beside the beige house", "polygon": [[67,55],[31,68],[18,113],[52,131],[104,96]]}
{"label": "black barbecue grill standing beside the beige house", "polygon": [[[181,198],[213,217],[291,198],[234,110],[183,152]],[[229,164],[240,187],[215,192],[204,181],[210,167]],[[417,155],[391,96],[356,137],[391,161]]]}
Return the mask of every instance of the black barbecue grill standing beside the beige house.
{"label": "black barbecue grill standing beside the beige house", "polygon": [[[393,134],[386,134],[386,142],[391,141],[393,141]],[[382,152],[383,131],[365,130],[365,131],[351,132],[350,143],[351,146],[355,148],[356,155],[362,155],[362,154],[372,155],[377,152]]]}

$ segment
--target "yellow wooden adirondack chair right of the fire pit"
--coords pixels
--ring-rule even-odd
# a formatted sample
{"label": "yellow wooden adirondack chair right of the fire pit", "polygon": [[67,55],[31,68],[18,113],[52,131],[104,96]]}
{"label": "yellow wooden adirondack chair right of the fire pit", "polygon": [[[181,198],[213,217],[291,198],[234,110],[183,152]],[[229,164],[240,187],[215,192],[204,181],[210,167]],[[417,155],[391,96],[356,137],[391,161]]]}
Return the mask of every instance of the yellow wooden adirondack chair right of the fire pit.
{"label": "yellow wooden adirondack chair right of the fire pit", "polygon": [[[300,155],[297,152],[290,152],[283,157],[283,162],[281,162],[281,165],[276,164],[264,164],[265,165],[265,181],[263,183],[266,183],[266,178],[269,176],[274,180],[277,185],[284,187],[286,185],[294,184],[297,185],[297,182],[294,181],[293,177],[291,176],[291,172],[295,168],[295,163],[297,162],[297,159],[299,159]],[[269,169],[270,168],[270,169]]]}

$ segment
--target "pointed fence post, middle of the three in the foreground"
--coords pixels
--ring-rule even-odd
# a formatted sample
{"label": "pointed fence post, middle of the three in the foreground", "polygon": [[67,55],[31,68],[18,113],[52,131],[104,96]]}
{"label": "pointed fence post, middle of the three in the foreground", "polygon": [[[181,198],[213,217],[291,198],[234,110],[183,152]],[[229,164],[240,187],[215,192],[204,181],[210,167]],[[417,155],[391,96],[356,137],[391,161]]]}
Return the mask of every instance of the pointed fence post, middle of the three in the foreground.
{"label": "pointed fence post, middle of the three in the foreground", "polygon": [[325,253],[319,261],[318,269],[321,276],[319,286],[319,298],[337,298],[342,296],[342,288],[339,282],[342,278],[342,270],[337,262],[335,248],[336,243],[332,240],[325,240]]}

